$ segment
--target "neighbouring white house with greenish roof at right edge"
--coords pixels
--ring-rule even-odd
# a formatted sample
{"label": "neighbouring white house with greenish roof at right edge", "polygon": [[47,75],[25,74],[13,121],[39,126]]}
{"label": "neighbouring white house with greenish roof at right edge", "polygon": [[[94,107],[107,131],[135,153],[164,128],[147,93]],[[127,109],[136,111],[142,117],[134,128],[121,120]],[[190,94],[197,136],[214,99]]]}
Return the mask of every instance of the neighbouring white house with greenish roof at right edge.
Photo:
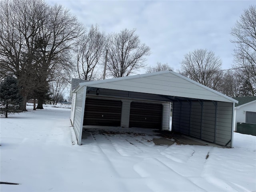
{"label": "neighbouring white house with greenish roof at right edge", "polygon": [[234,97],[238,100],[235,104],[234,131],[236,123],[254,123],[256,124],[256,96],[252,97]]}

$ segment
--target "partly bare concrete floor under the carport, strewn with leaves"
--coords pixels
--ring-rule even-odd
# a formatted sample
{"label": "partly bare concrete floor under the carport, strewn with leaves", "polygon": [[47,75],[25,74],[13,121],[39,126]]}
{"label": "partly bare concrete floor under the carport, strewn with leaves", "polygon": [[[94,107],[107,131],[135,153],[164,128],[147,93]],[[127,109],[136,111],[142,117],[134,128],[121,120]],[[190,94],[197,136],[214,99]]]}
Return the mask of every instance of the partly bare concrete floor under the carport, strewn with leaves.
{"label": "partly bare concrete floor under the carport, strewn with leaves", "polygon": [[82,134],[82,144],[90,143],[93,140],[97,142],[104,140],[104,138],[111,137],[111,139],[125,139],[137,142],[144,142],[154,145],[172,145],[174,143],[180,145],[200,145],[200,146],[216,146],[218,145],[204,142],[202,140],[184,136],[181,134],[174,134],[168,130],[147,129],[147,128],[122,128],[110,126],[84,126]]}

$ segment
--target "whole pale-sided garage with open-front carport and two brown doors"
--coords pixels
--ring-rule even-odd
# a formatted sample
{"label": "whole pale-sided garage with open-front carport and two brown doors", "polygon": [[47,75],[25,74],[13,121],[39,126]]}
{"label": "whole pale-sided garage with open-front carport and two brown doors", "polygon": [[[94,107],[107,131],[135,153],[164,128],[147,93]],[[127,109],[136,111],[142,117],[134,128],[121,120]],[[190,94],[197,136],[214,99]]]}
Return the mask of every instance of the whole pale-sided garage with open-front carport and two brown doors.
{"label": "whole pale-sided garage with open-front carport and two brown doors", "polygon": [[232,147],[238,101],[173,71],[80,82],[71,93],[71,122],[78,144],[85,125],[179,132]]}

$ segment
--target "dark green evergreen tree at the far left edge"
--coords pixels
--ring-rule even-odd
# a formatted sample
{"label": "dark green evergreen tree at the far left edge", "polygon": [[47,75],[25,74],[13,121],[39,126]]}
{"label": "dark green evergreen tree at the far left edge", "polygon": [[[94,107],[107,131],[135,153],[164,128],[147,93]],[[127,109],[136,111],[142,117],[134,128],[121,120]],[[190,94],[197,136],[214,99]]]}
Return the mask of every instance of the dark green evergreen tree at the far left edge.
{"label": "dark green evergreen tree at the far left edge", "polygon": [[22,102],[22,96],[19,92],[17,79],[7,76],[4,82],[0,84],[0,113],[7,114],[21,112],[18,110]]}

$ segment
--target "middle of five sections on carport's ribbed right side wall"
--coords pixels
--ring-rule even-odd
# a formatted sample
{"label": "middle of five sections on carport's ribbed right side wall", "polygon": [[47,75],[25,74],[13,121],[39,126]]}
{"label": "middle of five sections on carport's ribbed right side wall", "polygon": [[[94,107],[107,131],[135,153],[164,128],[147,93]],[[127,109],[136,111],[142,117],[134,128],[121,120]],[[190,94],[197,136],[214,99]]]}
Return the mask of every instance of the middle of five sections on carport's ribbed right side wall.
{"label": "middle of five sections on carport's ribbed right side wall", "polygon": [[190,122],[190,136],[194,138],[201,138],[202,126],[202,104],[198,101],[191,103],[191,122]]}

